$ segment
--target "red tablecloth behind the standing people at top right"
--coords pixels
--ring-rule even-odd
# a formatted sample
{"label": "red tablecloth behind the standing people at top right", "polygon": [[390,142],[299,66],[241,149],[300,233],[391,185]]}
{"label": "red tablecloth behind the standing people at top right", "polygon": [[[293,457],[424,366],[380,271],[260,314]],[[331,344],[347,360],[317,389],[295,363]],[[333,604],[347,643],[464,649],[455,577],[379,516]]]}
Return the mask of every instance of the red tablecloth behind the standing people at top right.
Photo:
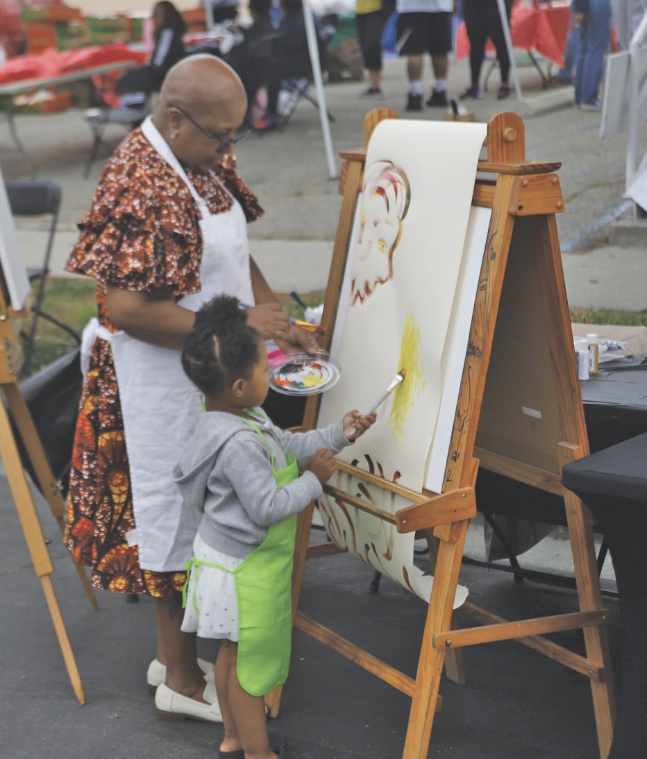
{"label": "red tablecloth behind the standing people at top right", "polygon": [[[564,65],[563,51],[569,27],[568,5],[557,5],[554,8],[513,8],[510,18],[513,47],[536,50],[539,55],[558,66]],[[489,40],[487,49],[494,52],[494,46]],[[456,58],[467,58],[468,55],[469,39],[463,21],[456,36]]]}

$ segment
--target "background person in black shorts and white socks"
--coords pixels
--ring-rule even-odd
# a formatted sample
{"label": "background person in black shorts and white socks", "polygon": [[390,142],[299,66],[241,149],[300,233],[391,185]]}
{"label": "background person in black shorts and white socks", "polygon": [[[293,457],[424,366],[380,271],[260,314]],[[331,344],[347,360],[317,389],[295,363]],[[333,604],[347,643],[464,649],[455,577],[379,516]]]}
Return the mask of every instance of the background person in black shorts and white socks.
{"label": "background person in black shorts and white socks", "polygon": [[397,0],[396,49],[406,57],[409,80],[407,111],[422,110],[424,54],[431,56],[435,83],[427,105],[447,108],[447,73],[452,49],[452,14],[455,0]]}

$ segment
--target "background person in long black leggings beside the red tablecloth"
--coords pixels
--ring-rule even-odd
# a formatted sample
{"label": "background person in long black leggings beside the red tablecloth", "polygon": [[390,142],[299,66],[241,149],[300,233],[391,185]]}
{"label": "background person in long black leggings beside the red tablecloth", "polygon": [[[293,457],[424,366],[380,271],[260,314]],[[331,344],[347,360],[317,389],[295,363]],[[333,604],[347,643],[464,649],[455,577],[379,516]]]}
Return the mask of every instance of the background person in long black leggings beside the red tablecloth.
{"label": "background person in long black leggings beside the red tablecloth", "polygon": [[[513,0],[505,0],[506,15],[510,26],[510,14],[512,13]],[[503,24],[499,14],[497,0],[462,0],[462,17],[465,20],[465,29],[469,39],[469,71],[472,83],[460,96],[461,99],[480,98],[481,66],[485,58],[485,43],[488,37],[492,40],[494,49],[497,51],[497,61],[501,72],[501,84],[497,92],[497,98],[503,100],[510,97],[508,77],[510,77],[510,55],[506,36],[503,33]]]}

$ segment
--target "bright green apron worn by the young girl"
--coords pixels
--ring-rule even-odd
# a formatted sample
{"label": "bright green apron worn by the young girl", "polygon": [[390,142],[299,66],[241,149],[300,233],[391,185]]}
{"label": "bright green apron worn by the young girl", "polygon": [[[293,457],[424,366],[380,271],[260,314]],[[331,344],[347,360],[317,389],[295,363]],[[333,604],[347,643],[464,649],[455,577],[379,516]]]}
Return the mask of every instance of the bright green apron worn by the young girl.
{"label": "bright green apron worn by the young girl", "polygon": [[[274,481],[283,487],[298,477],[298,465],[286,454],[288,465],[274,468],[270,443],[258,427],[245,424],[264,439],[270,449]],[[185,570],[210,566],[234,575],[238,597],[238,661],[236,672],[241,687],[253,696],[264,696],[288,677],[292,647],[292,562],[295,551],[297,517],[293,515],[270,524],[267,537],[233,570],[200,562],[193,557]],[[185,606],[186,588],[185,584]],[[195,603],[195,600],[194,600]],[[199,612],[196,606],[196,610]]]}

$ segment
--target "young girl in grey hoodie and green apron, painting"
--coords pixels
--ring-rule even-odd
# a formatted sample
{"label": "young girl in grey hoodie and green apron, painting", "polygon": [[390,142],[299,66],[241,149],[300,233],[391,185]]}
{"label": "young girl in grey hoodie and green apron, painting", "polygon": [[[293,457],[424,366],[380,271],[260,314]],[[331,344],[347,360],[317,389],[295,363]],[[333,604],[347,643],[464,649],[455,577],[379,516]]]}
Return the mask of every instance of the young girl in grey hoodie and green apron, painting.
{"label": "young girl in grey hoodie and green apron, painting", "polygon": [[258,408],[270,387],[265,343],[236,298],[198,311],[182,365],[207,411],[174,471],[183,529],[195,535],[182,629],[222,639],[219,757],[286,757],[284,747],[270,747],[263,697],[288,674],[296,514],[323,493],[333,451],[364,433],[375,414],[351,411],[307,433],[272,424]]}

